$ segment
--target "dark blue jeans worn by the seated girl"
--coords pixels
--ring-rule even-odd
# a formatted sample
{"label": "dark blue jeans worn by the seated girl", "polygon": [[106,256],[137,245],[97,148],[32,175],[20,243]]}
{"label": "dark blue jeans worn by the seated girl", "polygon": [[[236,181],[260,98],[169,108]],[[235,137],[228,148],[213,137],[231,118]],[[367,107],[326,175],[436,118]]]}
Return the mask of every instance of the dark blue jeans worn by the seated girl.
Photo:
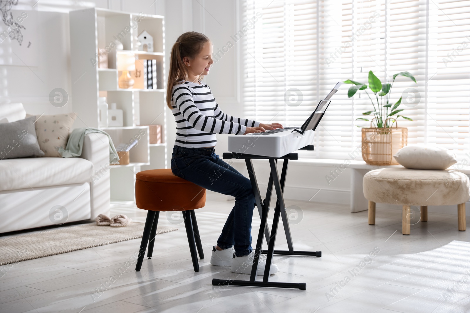
{"label": "dark blue jeans worn by the seated girl", "polygon": [[235,246],[237,257],[249,254],[251,219],[255,196],[250,179],[219,159],[214,148],[185,148],[175,145],[172,172],[205,189],[235,197],[235,206],[228,214],[217,245],[222,249]]}

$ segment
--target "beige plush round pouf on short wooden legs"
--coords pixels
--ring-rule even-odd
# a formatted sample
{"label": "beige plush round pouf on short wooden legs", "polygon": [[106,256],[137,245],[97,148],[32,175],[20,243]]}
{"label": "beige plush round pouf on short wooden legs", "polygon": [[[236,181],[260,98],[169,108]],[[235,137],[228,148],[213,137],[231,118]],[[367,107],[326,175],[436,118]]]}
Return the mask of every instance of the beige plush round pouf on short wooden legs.
{"label": "beige plush round pouf on short wooden legs", "polygon": [[428,206],[457,205],[458,228],[466,229],[465,202],[470,198],[470,180],[461,172],[379,168],[364,176],[362,186],[364,197],[369,200],[369,225],[376,221],[376,203],[403,206],[403,235],[410,233],[410,206],[420,206],[421,221],[427,221]]}

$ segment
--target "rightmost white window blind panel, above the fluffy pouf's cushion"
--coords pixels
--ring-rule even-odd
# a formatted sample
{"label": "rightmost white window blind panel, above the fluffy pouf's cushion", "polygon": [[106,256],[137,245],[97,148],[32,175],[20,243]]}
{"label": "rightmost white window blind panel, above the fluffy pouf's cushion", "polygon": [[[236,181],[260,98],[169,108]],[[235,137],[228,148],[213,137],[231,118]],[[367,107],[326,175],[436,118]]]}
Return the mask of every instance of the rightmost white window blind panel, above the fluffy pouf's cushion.
{"label": "rightmost white window blind panel, above the fluffy pouf's cushion", "polygon": [[429,13],[425,142],[465,156],[469,153],[470,1],[430,1]]}

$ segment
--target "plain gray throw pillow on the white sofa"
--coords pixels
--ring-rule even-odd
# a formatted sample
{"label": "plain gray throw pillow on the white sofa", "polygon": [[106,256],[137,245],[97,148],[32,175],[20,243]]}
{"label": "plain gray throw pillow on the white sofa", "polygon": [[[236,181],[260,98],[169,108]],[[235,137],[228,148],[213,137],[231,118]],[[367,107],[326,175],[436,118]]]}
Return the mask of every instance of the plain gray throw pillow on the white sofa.
{"label": "plain gray throw pillow on the white sofa", "polygon": [[0,160],[43,156],[34,128],[36,116],[0,123]]}

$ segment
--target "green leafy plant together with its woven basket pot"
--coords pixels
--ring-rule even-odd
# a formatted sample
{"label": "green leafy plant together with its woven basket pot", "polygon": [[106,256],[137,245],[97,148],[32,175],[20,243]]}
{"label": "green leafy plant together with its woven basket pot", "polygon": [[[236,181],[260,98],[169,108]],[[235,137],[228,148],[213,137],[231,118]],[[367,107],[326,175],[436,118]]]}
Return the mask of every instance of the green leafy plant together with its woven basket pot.
{"label": "green leafy plant together with its woven basket pot", "polygon": [[[400,72],[393,75],[392,83],[388,81],[382,84],[379,78],[369,71],[368,85],[351,79],[346,80],[345,84],[352,84],[348,90],[348,98],[351,98],[359,90],[366,92],[370,102],[372,103],[373,111],[366,111],[362,115],[373,115],[370,120],[370,127],[362,127],[362,158],[367,164],[372,165],[391,165],[398,164],[393,158],[399,149],[407,145],[408,132],[406,127],[398,127],[397,119],[402,117],[406,120],[413,121],[407,116],[400,114],[404,109],[399,108],[401,104],[401,97],[395,104],[390,102],[392,94],[392,86],[397,76],[405,76],[410,78],[416,83],[416,79],[409,72]],[[373,98],[367,90],[373,93]],[[369,119],[360,117],[357,120],[369,121]],[[395,127],[392,127],[395,123]],[[375,127],[373,127],[375,124]],[[358,126],[360,127],[360,126]]]}

